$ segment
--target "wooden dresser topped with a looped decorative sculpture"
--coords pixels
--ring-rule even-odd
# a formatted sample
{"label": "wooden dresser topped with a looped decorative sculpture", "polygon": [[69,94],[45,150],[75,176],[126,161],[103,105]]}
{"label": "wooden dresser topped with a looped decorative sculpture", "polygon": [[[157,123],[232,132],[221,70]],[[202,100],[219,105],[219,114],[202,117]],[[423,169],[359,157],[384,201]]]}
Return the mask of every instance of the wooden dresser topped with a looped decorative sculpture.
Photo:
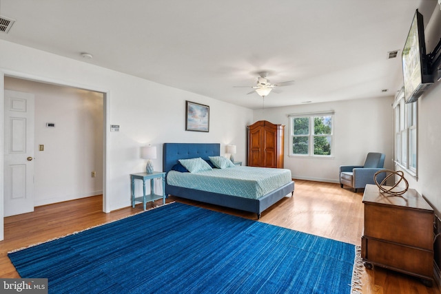
{"label": "wooden dresser topped with a looped decorative sculpture", "polygon": [[361,256],[365,266],[382,266],[433,283],[433,209],[414,189],[402,196],[366,185]]}

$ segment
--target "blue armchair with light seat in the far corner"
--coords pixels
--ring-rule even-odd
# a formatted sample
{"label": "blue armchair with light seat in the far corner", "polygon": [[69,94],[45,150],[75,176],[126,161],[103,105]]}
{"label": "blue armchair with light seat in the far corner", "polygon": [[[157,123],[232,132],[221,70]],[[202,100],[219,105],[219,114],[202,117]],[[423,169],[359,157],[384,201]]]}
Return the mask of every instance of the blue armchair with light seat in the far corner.
{"label": "blue armchair with light seat in the far corner", "polygon": [[[340,187],[347,185],[355,189],[365,188],[366,184],[375,184],[373,175],[383,169],[384,154],[369,152],[366,156],[365,165],[341,165],[340,166]],[[377,182],[381,182],[386,177],[385,173],[377,176]]]}

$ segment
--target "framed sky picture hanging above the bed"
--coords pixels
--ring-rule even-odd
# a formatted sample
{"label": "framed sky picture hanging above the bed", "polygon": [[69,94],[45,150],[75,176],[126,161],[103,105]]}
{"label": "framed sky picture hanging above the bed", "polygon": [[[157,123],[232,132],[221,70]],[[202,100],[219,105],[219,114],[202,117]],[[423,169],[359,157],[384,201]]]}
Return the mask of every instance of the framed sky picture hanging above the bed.
{"label": "framed sky picture hanging above the bed", "polygon": [[185,101],[185,131],[209,132],[209,106]]}

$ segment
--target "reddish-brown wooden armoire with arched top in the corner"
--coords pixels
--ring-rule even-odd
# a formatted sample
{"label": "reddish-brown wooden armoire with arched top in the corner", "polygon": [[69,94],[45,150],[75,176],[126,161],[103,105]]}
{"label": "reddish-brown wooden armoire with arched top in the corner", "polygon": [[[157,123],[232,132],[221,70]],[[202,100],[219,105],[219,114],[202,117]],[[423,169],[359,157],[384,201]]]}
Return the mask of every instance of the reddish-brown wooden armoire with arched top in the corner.
{"label": "reddish-brown wooden armoire with arched top in the corner", "polygon": [[248,166],[283,169],[285,125],[259,120],[248,126]]}

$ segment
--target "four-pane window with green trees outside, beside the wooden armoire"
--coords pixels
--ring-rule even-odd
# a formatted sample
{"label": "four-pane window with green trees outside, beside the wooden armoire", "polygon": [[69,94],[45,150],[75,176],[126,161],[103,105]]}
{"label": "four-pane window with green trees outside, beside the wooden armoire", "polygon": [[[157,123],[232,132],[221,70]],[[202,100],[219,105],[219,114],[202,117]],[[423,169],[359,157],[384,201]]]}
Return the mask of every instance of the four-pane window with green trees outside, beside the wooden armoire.
{"label": "four-pane window with green trees outside, beside the wooden armoire", "polygon": [[331,156],[334,112],[290,114],[290,156]]}

